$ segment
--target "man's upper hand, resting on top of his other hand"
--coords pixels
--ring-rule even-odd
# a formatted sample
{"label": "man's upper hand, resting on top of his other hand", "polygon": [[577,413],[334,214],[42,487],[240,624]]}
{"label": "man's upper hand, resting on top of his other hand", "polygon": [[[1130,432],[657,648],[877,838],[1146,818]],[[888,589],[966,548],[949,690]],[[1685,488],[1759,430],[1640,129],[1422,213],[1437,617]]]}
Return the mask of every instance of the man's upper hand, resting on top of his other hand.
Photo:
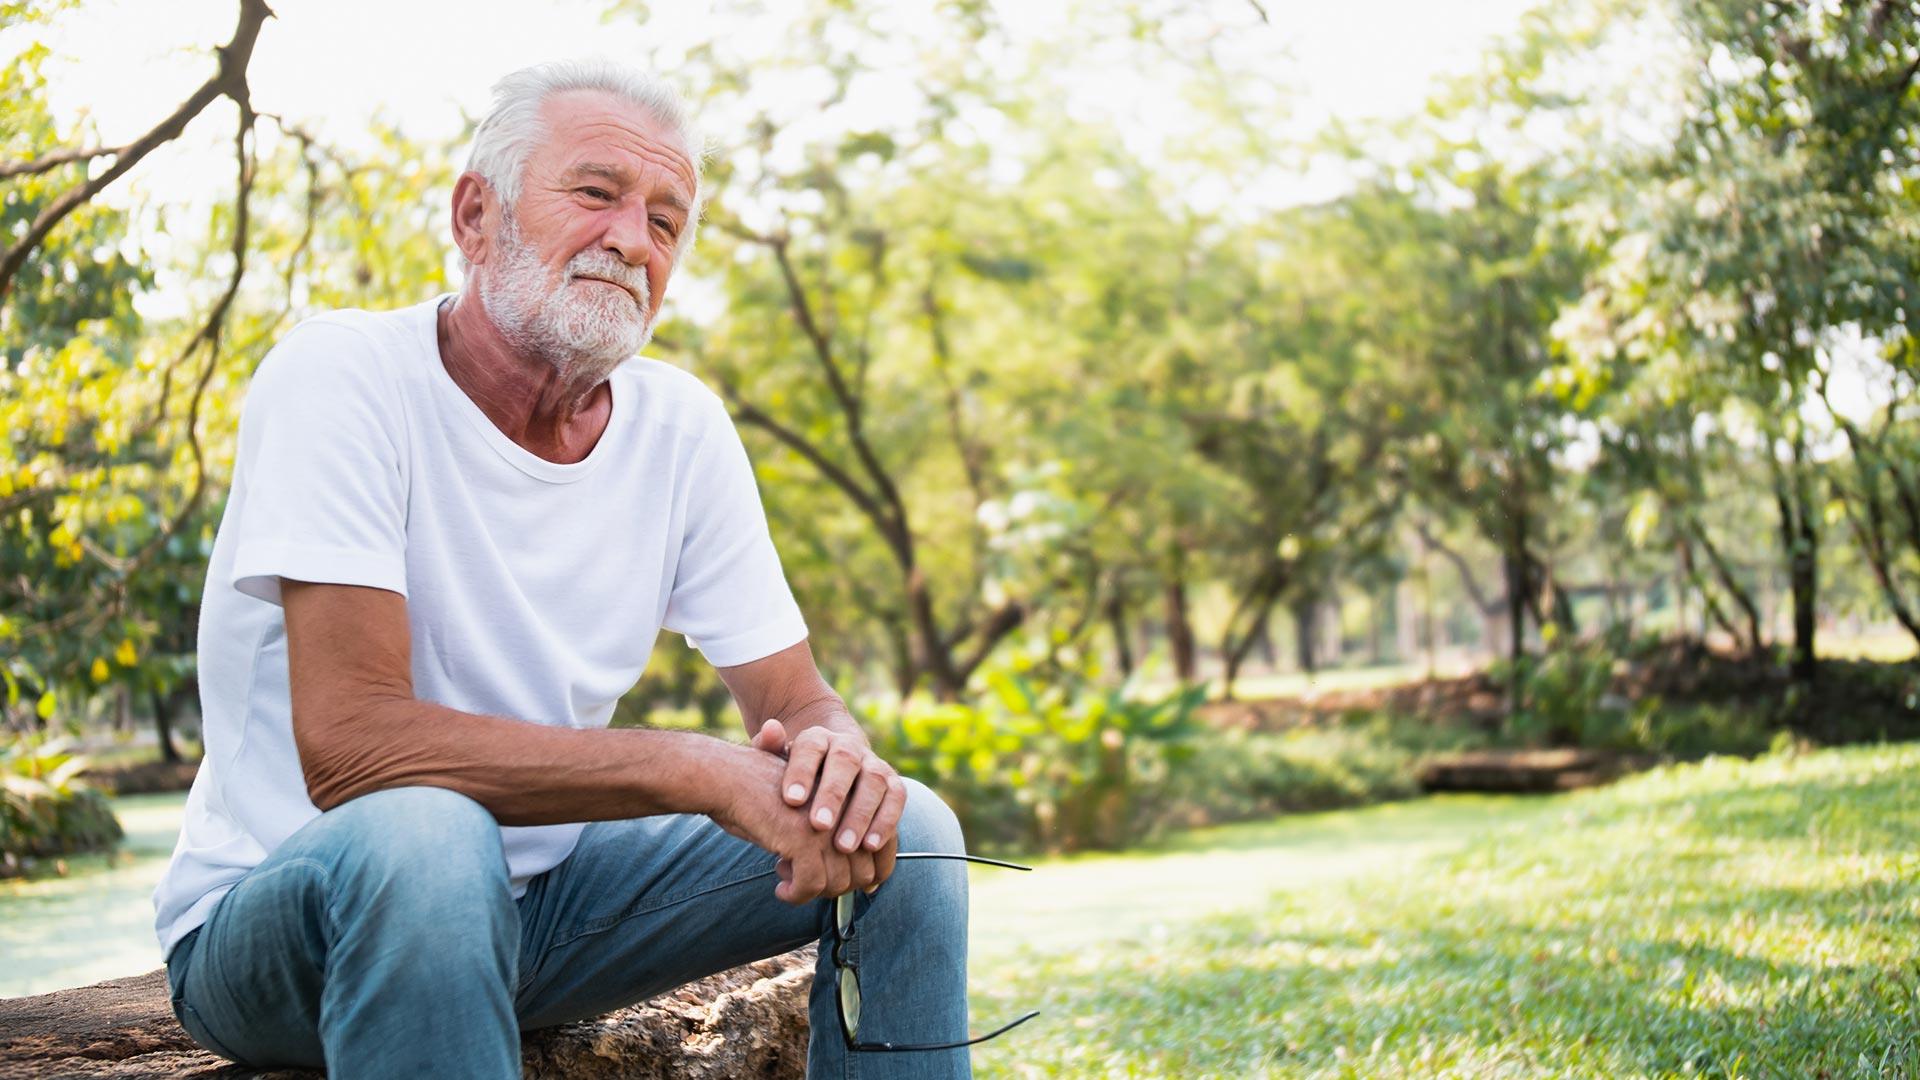
{"label": "man's upper hand, resting on top of his other hand", "polygon": [[808,726],[789,740],[785,724],[766,721],[755,732],[753,746],[785,755],[780,778],[785,805],[806,809],[808,824],[831,836],[833,849],[852,865],[854,888],[872,892],[893,874],[906,782],[874,753],[866,738]]}

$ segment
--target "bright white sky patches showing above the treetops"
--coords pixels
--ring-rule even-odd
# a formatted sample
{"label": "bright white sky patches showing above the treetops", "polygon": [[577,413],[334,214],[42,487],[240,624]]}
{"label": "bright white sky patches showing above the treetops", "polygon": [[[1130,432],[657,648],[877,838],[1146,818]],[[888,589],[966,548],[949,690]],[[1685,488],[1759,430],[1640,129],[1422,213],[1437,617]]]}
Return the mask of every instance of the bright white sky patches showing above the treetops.
{"label": "bright white sky patches showing above the treetops", "polygon": [[[372,117],[413,136],[451,136],[463,113],[478,115],[501,73],[563,56],[641,56],[660,40],[685,40],[705,17],[699,4],[651,4],[641,27],[603,21],[597,0],[275,0],[250,81],[261,111],[280,113],[336,144],[365,138]],[[795,4],[768,0],[772,12]],[[1530,0],[1223,0],[1227,19],[1248,27],[1223,52],[1294,86],[1302,129],[1331,117],[1361,119],[1417,110],[1436,75],[1473,67],[1492,37],[1511,31]],[[996,4],[1018,35],[1069,35],[1068,0]],[[211,46],[227,40],[234,0],[88,0],[63,17],[48,71],[56,113],[90,115],[113,144],[146,131],[211,71]],[[906,15],[912,19],[912,15]],[[732,33],[753,35],[781,19],[756,19]],[[0,50],[17,48],[0,31]],[[1177,102],[1127,69],[1089,56],[1075,92],[1112,115],[1144,127],[1183,121]],[[672,73],[666,73],[672,77]],[[876,102],[883,106],[883,102]],[[204,119],[182,148],[142,165],[142,186],[161,198],[192,198],[227,186],[225,131]],[[724,133],[714,133],[724,135]],[[198,146],[196,146],[198,144]],[[211,171],[211,175],[209,175]]]}

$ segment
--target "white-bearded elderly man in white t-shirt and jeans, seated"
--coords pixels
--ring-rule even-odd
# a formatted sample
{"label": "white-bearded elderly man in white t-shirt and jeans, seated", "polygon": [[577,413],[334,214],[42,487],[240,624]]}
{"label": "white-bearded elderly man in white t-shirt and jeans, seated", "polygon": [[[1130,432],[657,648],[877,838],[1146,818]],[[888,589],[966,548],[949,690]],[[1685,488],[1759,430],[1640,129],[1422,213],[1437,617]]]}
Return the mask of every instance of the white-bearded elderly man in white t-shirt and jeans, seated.
{"label": "white-bearded elderly man in white t-shirt and jeans, seated", "polygon": [[[309,319],[261,363],[156,894],[202,1045],[518,1076],[522,1028],[820,940],[814,1074],[966,1074],[964,1049],[851,1049],[829,955],[856,953],[862,1043],[964,1040],[964,865],[895,865],[960,828],[814,669],[722,404],[632,361],[699,202],[660,85],[518,71],[453,188],[461,292]],[[660,626],[753,746],[607,728]]]}

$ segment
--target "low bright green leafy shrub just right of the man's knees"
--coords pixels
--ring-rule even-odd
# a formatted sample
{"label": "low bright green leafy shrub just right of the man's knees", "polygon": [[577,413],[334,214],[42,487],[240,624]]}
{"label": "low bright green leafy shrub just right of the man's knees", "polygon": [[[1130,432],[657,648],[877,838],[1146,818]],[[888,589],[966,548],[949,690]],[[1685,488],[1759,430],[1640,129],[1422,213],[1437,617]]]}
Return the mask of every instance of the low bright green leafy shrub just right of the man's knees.
{"label": "low bright green leafy shrub just right of the man's knees", "polygon": [[1096,671],[1020,663],[975,701],[908,700],[868,713],[881,757],[937,788],[970,844],[1123,847],[1169,828],[1350,807],[1417,792],[1404,732],[1382,723],[1215,730],[1198,686],[1140,696]]}

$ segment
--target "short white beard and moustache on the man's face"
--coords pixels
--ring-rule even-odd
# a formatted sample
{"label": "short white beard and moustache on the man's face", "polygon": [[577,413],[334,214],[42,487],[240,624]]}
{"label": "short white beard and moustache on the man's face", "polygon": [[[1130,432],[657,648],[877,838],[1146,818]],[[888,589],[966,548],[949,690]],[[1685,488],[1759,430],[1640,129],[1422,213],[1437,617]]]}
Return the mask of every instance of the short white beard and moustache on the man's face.
{"label": "short white beard and moustache on the man's face", "polygon": [[[559,284],[547,288],[547,267],[511,213],[495,248],[499,261],[480,273],[480,302],[515,352],[551,363],[568,380],[597,384],[653,338],[643,269],[591,248],[574,256]],[[574,284],[576,275],[626,282],[634,294],[599,282]]]}

